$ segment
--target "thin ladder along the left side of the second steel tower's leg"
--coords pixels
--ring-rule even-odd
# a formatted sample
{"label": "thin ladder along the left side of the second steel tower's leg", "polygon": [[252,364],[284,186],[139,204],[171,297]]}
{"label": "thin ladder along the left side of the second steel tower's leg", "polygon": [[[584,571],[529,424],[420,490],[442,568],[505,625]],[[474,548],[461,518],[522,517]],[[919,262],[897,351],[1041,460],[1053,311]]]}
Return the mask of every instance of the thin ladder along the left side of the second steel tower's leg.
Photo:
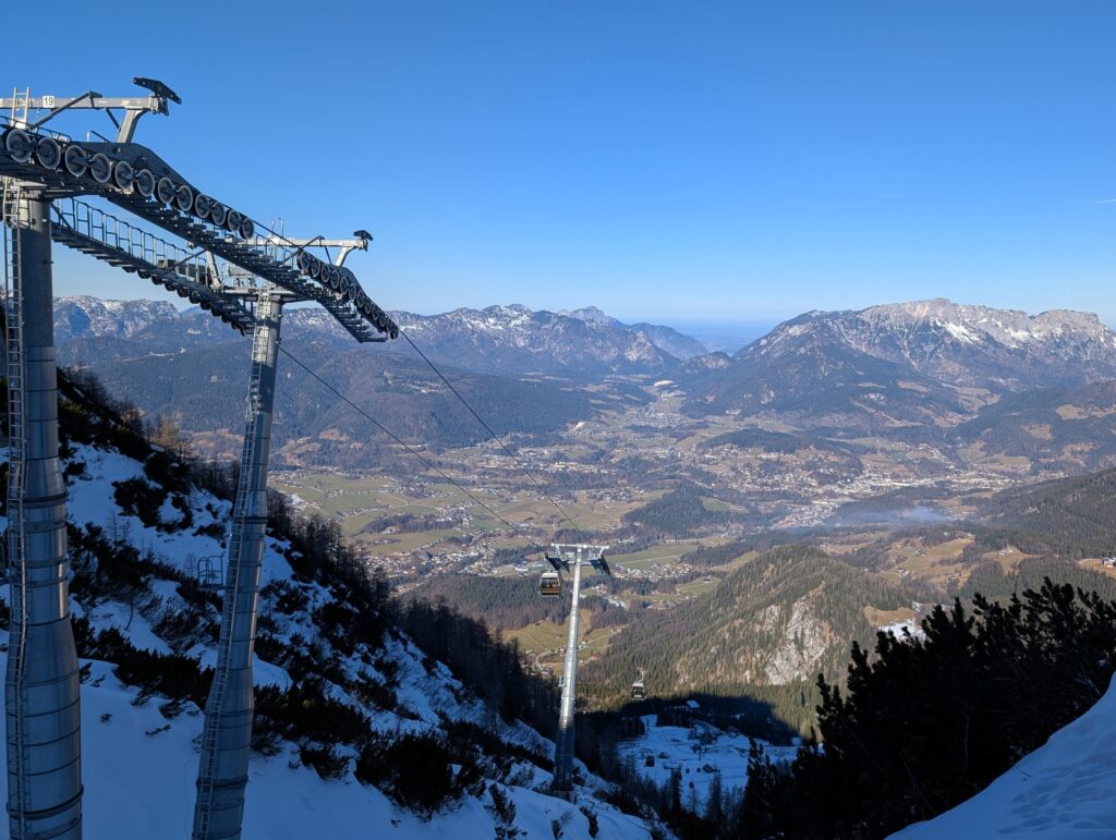
{"label": "thin ladder along the left side of the second steel tower's leg", "polygon": [[267,348],[267,332],[257,329],[252,334],[252,373],[248,389],[248,405],[244,408],[244,445],[240,455],[240,475],[237,480],[237,498],[232,508],[232,533],[229,540],[229,561],[225,567],[224,604],[221,611],[221,638],[218,643],[217,670],[213,674],[213,688],[205,707],[205,725],[202,731],[203,765],[198,779],[198,811],[194,822],[194,837],[205,838],[209,833],[209,821],[212,815],[213,789],[217,786],[217,743],[219,736],[218,723],[224,708],[228,689],[229,664],[232,657],[232,622],[237,615],[237,600],[240,589],[240,556],[243,548],[243,518],[247,514],[250,466],[256,460],[256,431],[260,421],[260,369],[263,350]]}

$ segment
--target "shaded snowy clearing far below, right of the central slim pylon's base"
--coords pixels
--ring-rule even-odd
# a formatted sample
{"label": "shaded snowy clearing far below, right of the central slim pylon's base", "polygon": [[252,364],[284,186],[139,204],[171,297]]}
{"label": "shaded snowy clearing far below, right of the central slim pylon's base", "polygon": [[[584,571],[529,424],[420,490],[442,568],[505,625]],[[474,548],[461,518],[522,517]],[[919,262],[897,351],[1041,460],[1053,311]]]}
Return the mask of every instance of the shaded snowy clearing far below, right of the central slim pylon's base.
{"label": "shaded snowy clearing far below, right of the central slim pylon's base", "polygon": [[[704,811],[710,785],[718,772],[725,793],[733,788],[743,790],[748,782],[748,750],[751,746],[751,738],[747,735],[708,727],[705,731],[712,741],[703,744],[686,727],[655,726],[656,715],[645,715],[639,720],[645,733],[638,738],[622,742],[620,757],[632,759],[635,771],[660,786],[670,781],[673,771],[681,772],[683,808],[698,813]],[[796,746],[761,743],[772,761],[789,761],[798,750]],[[654,766],[646,766],[647,756],[654,757]],[[706,766],[713,772],[706,771]]]}

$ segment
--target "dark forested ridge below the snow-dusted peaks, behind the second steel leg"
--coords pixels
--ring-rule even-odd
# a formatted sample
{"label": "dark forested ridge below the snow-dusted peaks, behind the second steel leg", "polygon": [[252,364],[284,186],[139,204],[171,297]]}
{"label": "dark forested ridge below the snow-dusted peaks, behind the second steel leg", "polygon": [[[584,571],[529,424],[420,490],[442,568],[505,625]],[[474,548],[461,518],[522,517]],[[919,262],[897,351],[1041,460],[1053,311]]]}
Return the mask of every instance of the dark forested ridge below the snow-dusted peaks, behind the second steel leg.
{"label": "dark forested ridge below the snow-dusted peaks, behind the second steel leg", "polygon": [[[294,339],[283,346],[407,443],[462,446],[488,436],[417,357],[327,351]],[[74,353],[62,358],[84,361]],[[145,414],[173,418],[200,454],[231,457],[240,451],[248,367],[248,345],[237,341],[104,361],[97,376]],[[554,432],[624,402],[549,382],[453,369],[445,374],[465,399],[487,407],[490,425],[500,434]],[[280,357],[279,377],[277,464],[400,466],[387,437],[289,358]],[[539,411],[541,405],[547,409]]]}

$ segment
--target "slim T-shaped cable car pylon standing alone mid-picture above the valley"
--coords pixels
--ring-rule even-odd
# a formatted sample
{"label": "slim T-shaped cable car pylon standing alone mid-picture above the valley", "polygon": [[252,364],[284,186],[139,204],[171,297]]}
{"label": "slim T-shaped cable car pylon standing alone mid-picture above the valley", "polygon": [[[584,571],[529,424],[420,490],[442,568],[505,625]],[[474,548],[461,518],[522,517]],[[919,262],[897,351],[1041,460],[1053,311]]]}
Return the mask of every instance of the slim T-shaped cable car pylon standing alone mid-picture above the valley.
{"label": "slim T-shaped cable car pylon standing alone mid-picture above the valley", "polygon": [[561,705],[558,709],[558,732],[555,735],[555,770],[550,790],[562,799],[574,800],[574,713],[577,702],[577,644],[580,625],[581,567],[591,566],[599,572],[612,576],[612,569],[605,560],[607,545],[586,545],[584,543],[555,543],[546,553],[552,572],[546,572],[539,586],[543,596],[552,592],[552,579],[558,578],[560,591],[561,572],[570,572],[573,568],[573,599],[569,610],[569,635],[566,640],[566,659],[561,677]]}

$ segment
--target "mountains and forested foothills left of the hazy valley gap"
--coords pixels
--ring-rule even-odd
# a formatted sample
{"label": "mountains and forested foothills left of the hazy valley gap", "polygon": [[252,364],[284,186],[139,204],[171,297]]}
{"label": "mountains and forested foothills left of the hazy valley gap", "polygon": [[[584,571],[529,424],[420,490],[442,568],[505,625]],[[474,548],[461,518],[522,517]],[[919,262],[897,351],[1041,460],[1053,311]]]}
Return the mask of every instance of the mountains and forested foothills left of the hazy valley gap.
{"label": "mountains and forested foothills left of the hazy valley gap", "polygon": [[[647,399],[637,388],[590,392],[581,387],[587,383],[613,374],[661,375],[679,364],[644,331],[598,313],[511,306],[394,316],[498,433],[530,435]],[[283,319],[285,347],[408,443],[462,446],[487,437],[403,341],[356,345],[316,308],[289,309]],[[55,329],[61,364],[88,367],[146,414],[174,418],[201,453],[239,452],[248,339],[201,311],[90,297],[56,300]],[[686,340],[666,327],[655,330],[676,344]],[[280,367],[279,463],[371,467],[397,458],[367,421],[296,366]]]}

